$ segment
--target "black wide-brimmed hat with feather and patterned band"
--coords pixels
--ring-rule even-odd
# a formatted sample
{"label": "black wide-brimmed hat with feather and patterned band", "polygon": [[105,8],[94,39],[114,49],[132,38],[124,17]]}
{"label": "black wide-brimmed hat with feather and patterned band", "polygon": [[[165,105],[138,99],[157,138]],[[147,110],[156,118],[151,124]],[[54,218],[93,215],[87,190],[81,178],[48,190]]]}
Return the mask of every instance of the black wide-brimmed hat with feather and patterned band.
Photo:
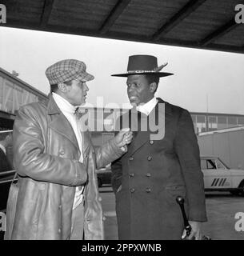
{"label": "black wide-brimmed hat with feather and patterned band", "polygon": [[168,63],[158,66],[158,60],[152,55],[132,55],[129,57],[127,73],[112,74],[113,77],[127,77],[130,74],[156,74],[158,77],[166,77],[173,73],[159,72]]}

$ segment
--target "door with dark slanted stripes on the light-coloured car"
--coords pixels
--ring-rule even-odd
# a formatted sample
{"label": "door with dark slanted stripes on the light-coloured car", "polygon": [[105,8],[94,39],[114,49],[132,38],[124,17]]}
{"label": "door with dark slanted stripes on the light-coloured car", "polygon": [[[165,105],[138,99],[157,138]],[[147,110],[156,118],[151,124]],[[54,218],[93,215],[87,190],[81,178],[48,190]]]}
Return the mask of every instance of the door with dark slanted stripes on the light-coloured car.
{"label": "door with dark slanted stripes on the light-coloured car", "polygon": [[231,187],[230,171],[222,165],[218,158],[201,160],[206,190],[223,190]]}

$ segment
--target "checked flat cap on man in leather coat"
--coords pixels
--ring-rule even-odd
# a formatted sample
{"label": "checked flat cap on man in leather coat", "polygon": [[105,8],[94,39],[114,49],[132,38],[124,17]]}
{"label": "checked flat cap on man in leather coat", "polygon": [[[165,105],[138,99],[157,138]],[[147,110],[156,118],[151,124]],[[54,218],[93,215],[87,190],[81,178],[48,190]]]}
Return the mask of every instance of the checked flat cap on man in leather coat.
{"label": "checked flat cap on man in leather coat", "polygon": [[76,59],[65,59],[46,69],[46,77],[50,85],[58,82],[68,82],[77,79],[86,82],[94,79],[94,76],[86,73],[86,64]]}

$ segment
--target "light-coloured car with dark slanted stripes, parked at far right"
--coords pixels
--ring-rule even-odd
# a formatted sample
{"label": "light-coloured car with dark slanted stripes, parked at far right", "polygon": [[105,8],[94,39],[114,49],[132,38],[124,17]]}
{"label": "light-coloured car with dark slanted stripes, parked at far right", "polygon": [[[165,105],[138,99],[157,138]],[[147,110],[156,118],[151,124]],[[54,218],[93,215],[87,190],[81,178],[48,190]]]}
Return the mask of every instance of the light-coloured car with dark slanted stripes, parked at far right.
{"label": "light-coloured car with dark slanted stripes, parked at far right", "polygon": [[244,170],[230,169],[218,157],[201,157],[206,191],[230,191],[244,196]]}

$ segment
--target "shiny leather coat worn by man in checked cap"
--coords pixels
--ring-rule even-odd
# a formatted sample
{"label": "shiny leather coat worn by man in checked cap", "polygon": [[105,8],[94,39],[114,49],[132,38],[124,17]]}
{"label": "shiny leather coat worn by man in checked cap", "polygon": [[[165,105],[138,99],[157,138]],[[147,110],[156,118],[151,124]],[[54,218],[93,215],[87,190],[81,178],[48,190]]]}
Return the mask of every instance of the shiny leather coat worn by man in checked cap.
{"label": "shiny leather coat worn by man in checked cap", "polygon": [[95,152],[82,133],[78,162],[74,131],[50,95],[18,110],[14,122],[14,168],[18,200],[10,239],[69,239],[75,186],[85,185],[85,239],[104,238],[101,198],[95,169],[122,155],[114,139]]}

